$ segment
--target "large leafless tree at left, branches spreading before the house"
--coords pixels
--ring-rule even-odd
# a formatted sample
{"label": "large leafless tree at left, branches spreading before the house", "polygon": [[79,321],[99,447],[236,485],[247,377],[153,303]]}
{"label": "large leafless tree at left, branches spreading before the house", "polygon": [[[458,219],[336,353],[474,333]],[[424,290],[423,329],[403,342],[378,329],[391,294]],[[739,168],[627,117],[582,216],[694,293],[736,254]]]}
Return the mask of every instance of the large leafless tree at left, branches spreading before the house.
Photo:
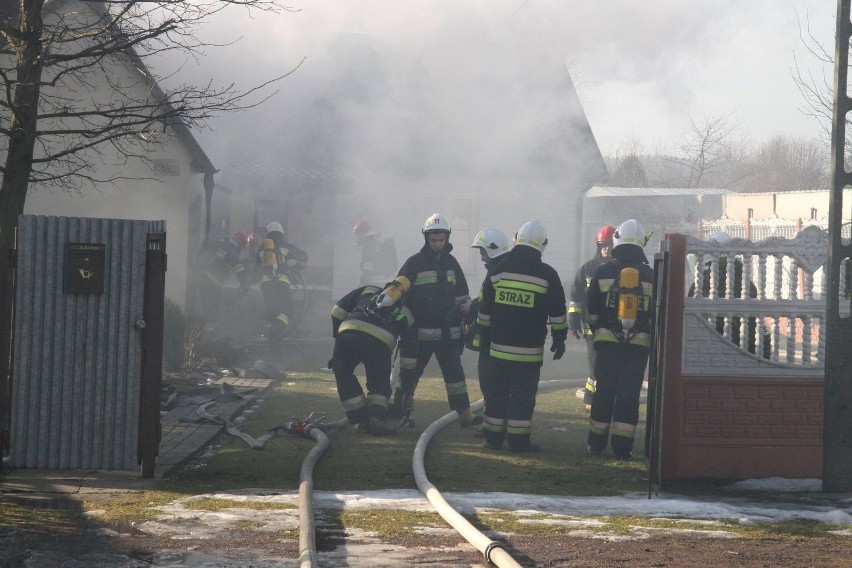
{"label": "large leafless tree at left, branches spreading before the house", "polygon": [[[12,245],[32,186],[79,191],[115,183],[97,176],[99,160],[145,161],[167,134],[273,94],[272,83],[286,74],[245,91],[212,83],[164,91],[147,71],[147,61],[168,52],[203,56],[211,46],[195,35],[199,25],[233,5],[290,10],[277,0],[0,0],[0,254]],[[9,290],[0,282],[0,304],[10,301]],[[0,402],[9,385],[5,307]]]}

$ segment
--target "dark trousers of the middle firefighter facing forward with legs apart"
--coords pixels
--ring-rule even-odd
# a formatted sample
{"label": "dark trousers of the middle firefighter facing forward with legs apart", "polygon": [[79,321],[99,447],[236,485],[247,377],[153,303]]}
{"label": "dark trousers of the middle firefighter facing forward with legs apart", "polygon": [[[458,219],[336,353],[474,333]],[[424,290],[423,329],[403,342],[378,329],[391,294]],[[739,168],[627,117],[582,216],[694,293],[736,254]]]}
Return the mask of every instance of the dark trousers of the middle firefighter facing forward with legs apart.
{"label": "dark trousers of the middle firefighter facing forward with legs apart", "polygon": [[[437,359],[441,374],[444,376],[450,410],[457,412],[466,410],[470,407],[470,398],[467,394],[467,384],[465,383],[464,368],[461,364],[461,353],[457,339],[417,340],[411,343],[400,343],[399,387],[394,393],[394,404],[404,408],[406,406],[405,398],[413,399],[417,383],[420,382],[423,370],[432,355]],[[409,367],[406,361],[413,363],[413,366]]]}

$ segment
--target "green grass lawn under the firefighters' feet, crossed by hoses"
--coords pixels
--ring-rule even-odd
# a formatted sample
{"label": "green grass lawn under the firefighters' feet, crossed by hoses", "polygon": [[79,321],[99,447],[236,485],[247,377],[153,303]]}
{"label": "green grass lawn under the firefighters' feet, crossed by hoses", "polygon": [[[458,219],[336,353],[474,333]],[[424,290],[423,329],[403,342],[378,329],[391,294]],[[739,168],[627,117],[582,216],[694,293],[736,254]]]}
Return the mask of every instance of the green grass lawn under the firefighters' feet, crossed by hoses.
{"label": "green grass lawn under the firefighters' feet, crossed by hoses", "polygon": [[[543,383],[544,385],[545,383]],[[475,379],[468,380],[472,401],[481,394]],[[631,462],[586,454],[588,414],[575,396],[577,387],[542,388],[533,423],[533,440],[543,450],[536,454],[494,452],[482,447],[474,432],[452,423],[429,445],[426,472],[441,491],[502,491],[547,495],[618,495],[647,491],[641,459],[644,428],[640,428]],[[241,425],[258,437],[291,418],[324,412],[326,422],[342,418],[334,377],[330,373],[300,372],[267,391],[260,408]],[[390,436],[371,436],[353,428],[328,432],[330,448],[314,471],[314,488],[324,491],[416,489],[411,458],[421,432],[449,412],[444,383],[424,376],[417,389],[416,426]],[[644,416],[644,408],[641,409]],[[252,450],[238,438],[225,438],[203,467],[188,467],[173,482],[196,490],[246,487],[295,489],[302,460],[314,440],[277,434],[262,450]]]}

